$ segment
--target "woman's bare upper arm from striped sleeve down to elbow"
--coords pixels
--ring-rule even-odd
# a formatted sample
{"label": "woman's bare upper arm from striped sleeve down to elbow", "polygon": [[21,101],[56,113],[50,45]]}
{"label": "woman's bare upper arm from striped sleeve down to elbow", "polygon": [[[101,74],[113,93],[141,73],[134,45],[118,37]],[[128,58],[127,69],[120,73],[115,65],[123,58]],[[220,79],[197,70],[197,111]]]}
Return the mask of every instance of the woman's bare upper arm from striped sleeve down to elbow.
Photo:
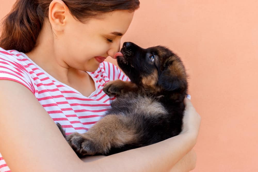
{"label": "woman's bare upper arm from striped sleeve down to elbow", "polygon": [[33,93],[14,81],[0,85],[0,152],[11,171],[77,170],[80,159]]}

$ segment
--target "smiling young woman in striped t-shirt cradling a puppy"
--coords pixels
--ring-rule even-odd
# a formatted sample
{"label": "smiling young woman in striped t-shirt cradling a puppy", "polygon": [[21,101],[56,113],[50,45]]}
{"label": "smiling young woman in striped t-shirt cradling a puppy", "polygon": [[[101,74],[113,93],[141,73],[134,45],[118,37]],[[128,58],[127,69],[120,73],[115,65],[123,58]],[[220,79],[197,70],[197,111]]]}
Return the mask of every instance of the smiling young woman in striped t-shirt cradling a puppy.
{"label": "smiling young woman in striped t-shirt cradling a puppy", "polygon": [[[0,171],[189,171],[199,114],[189,99],[180,135],[111,156],[79,159],[63,138],[109,108],[103,85],[138,0],[18,0],[0,37]],[[3,156],[3,157],[2,157]],[[7,166],[8,165],[8,166]],[[10,168],[10,169],[9,169]]]}

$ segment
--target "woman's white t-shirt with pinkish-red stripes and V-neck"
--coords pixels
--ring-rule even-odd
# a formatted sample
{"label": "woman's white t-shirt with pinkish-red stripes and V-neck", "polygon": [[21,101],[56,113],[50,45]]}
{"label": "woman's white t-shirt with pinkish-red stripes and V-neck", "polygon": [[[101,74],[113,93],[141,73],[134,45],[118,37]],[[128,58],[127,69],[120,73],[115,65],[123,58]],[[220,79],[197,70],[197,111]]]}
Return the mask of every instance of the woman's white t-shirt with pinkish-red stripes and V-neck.
{"label": "woman's white t-shirt with pinkish-red stripes and V-neck", "polygon": [[[95,72],[87,72],[96,90],[88,97],[63,84],[45,72],[26,54],[0,48],[0,79],[12,80],[26,86],[66,134],[85,133],[103,117],[115,97],[102,90],[110,80],[128,78],[114,64],[103,62]],[[87,89],[87,88],[85,88]],[[0,138],[1,139],[1,138]],[[10,171],[0,152],[0,172]]]}

